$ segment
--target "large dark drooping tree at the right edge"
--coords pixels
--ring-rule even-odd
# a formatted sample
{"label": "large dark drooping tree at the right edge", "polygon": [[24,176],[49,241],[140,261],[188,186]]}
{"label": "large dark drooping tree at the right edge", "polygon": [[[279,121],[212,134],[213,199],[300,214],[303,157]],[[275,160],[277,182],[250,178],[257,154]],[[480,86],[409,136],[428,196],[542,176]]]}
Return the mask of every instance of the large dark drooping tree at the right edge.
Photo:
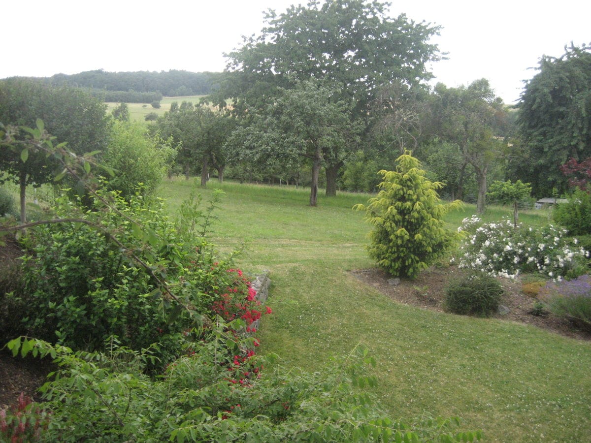
{"label": "large dark drooping tree at the right edge", "polygon": [[591,157],[591,47],[565,50],[558,58],[540,58],[518,105],[525,155],[512,165],[512,175],[531,181],[538,196],[566,191],[560,165]]}

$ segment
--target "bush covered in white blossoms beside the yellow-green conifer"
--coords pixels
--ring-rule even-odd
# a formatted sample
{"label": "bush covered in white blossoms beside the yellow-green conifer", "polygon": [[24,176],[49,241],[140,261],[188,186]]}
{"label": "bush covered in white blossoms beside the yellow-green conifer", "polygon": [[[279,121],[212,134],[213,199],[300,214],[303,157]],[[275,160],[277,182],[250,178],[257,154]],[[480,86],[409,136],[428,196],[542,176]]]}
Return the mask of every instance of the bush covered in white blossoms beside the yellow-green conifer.
{"label": "bush covered in white blossoms beside the yellow-green conifer", "polygon": [[[489,275],[515,278],[522,272],[537,272],[560,281],[589,252],[565,239],[567,231],[552,225],[532,229],[509,220],[481,223],[466,218],[459,231],[469,233],[457,258],[460,268],[477,269]],[[573,244],[571,244],[573,243]]]}

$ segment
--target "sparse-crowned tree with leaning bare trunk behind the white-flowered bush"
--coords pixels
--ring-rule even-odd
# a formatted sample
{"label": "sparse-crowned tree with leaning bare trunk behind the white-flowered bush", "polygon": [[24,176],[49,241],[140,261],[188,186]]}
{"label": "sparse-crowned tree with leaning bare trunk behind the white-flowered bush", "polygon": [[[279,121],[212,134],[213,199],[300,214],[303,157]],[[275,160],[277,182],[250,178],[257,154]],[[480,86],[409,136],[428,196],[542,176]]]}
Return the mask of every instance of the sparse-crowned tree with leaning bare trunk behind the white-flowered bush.
{"label": "sparse-crowned tree with leaning bare trunk behind the white-flowered bush", "polygon": [[[468,164],[474,168],[478,183],[476,211],[482,214],[489,168],[506,145],[502,136],[506,122],[502,100],[495,97],[486,79],[457,88],[439,83],[433,99],[435,131],[444,140],[459,146],[463,158],[460,171]],[[459,180],[463,183],[463,177]]]}

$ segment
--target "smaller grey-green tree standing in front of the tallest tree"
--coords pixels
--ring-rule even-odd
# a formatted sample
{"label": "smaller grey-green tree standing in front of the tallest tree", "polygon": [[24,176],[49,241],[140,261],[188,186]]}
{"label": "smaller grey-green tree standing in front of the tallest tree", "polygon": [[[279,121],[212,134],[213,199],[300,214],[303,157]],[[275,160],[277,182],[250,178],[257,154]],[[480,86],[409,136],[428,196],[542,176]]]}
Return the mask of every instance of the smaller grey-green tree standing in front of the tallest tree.
{"label": "smaller grey-green tree standing in front of the tallest tree", "polygon": [[232,134],[228,146],[235,162],[247,161],[275,167],[291,167],[299,157],[312,163],[310,206],[316,206],[318,179],[323,165],[342,161],[355,146],[358,125],[351,121],[351,103],[320,82],[298,82],[282,90],[251,125]]}

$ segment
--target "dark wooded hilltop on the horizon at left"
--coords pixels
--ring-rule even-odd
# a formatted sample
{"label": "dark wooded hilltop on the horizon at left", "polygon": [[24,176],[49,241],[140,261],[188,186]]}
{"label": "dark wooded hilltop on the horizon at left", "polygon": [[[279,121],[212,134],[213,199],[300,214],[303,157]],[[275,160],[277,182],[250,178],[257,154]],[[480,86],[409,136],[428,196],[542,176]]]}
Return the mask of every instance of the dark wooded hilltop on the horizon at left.
{"label": "dark wooded hilltop on the horizon at left", "polygon": [[[43,80],[54,86],[89,88],[95,95],[105,96],[106,102],[150,103],[158,96],[207,95],[215,89],[219,76],[220,73],[178,70],[106,72],[98,69],[71,75],[55,74]],[[127,100],[120,99],[122,92],[129,95]]]}

